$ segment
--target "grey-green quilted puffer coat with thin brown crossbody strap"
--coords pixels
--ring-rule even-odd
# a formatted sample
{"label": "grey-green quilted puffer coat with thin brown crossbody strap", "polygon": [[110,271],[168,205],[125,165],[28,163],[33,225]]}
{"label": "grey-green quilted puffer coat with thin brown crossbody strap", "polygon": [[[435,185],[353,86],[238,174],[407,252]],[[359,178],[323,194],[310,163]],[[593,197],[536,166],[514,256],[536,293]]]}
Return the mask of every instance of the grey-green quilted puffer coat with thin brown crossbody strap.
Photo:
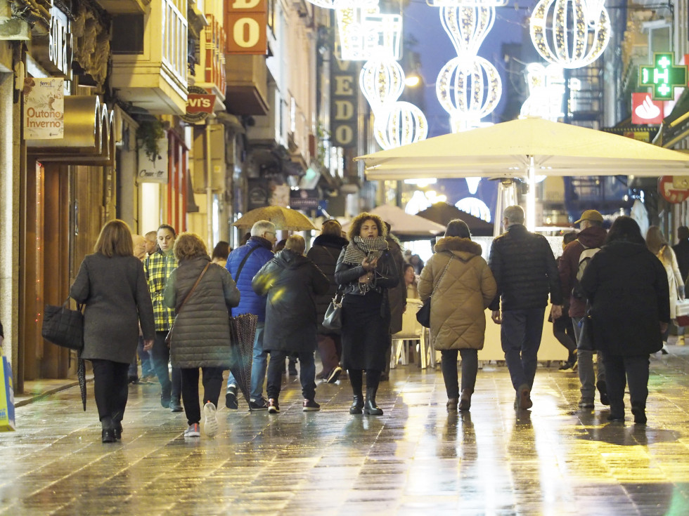
{"label": "grey-green quilted puffer coat with thin brown crossbody strap", "polygon": [[239,304],[240,297],[230,273],[211,263],[184,303],[209,262],[208,256],[182,260],[167,280],[165,305],[177,314],[170,342],[170,361],[176,367],[230,366],[229,312]]}

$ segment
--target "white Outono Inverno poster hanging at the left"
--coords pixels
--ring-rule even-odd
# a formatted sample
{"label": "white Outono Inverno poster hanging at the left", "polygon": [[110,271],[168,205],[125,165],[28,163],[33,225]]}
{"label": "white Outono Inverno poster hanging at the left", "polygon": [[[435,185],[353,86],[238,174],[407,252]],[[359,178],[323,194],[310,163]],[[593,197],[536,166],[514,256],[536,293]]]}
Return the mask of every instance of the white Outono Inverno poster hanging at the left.
{"label": "white Outono Inverno poster hanging at the left", "polygon": [[65,136],[65,79],[24,81],[24,138],[47,140]]}

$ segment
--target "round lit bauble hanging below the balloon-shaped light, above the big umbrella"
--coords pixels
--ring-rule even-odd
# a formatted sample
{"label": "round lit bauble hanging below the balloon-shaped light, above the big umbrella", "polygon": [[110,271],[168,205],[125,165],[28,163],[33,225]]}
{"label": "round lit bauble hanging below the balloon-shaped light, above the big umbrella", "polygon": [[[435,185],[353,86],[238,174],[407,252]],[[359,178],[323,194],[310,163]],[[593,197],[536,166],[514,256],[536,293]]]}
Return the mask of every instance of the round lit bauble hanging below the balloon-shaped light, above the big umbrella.
{"label": "round lit bauble hanging below the balloon-shaped light, above the big umbrella", "polygon": [[498,105],[502,82],[488,60],[470,55],[453,58],[442,67],[435,92],[454,119],[479,120]]}

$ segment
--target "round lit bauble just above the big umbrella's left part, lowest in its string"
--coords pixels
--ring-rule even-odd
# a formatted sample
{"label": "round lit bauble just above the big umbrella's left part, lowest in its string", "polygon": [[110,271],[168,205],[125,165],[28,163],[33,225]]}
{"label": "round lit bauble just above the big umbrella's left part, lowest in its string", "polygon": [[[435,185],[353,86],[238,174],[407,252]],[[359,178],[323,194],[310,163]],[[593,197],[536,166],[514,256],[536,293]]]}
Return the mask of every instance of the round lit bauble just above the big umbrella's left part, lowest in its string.
{"label": "round lit bauble just above the big umbrella's left part, lowest in its string", "polygon": [[375,141],[382,149],[392,149],[425,140],[428,123],[423,112],[409,102],[394,102],[385,112],[375,113]]}

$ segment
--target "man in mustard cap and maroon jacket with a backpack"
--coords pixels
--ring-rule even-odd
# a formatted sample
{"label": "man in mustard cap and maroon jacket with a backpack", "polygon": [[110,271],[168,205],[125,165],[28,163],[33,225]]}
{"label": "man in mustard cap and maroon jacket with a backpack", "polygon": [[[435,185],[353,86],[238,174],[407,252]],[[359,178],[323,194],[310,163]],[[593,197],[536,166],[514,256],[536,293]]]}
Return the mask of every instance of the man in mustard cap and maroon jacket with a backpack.
{"label": "man in mustard cap and maroon jacket with a backpack", "polygon": [[[574,336],[577,343],[581,341],[581,319],[586,312],[586,296],[581,291],[579,279],[581,273],[579,269],[585,267],[584,261],[580,260],[581,253],[588,250],[588,254],[593,254],[605,242],[607,231],[603,229],[603,216],[595,210],[586,210],[581,213],[581,218],[575,224],[579,224],[581,232],[577,235],[574,242],[570,242],[562,252],[558,270],[560,271],[560,286],[562,295],[569,296],[569,317],[574,323]],[[581,264],[580,264],[581,261]],[[583,270],[582,270],[583,272]],[[607,401],[607,388],[605,385],[605,366],[603,366],[603,355],[598,352],[596,364],[598,366],[598,378],[593,371],[593,351],[577,350],[577,362],[579,362],[579,381],[581,381],[581,399],[579,408],[593,409],[593,397],[595,388],[600,392],[600,402],[604,405]],[[598,381],[596,381],[596,379]]]}

